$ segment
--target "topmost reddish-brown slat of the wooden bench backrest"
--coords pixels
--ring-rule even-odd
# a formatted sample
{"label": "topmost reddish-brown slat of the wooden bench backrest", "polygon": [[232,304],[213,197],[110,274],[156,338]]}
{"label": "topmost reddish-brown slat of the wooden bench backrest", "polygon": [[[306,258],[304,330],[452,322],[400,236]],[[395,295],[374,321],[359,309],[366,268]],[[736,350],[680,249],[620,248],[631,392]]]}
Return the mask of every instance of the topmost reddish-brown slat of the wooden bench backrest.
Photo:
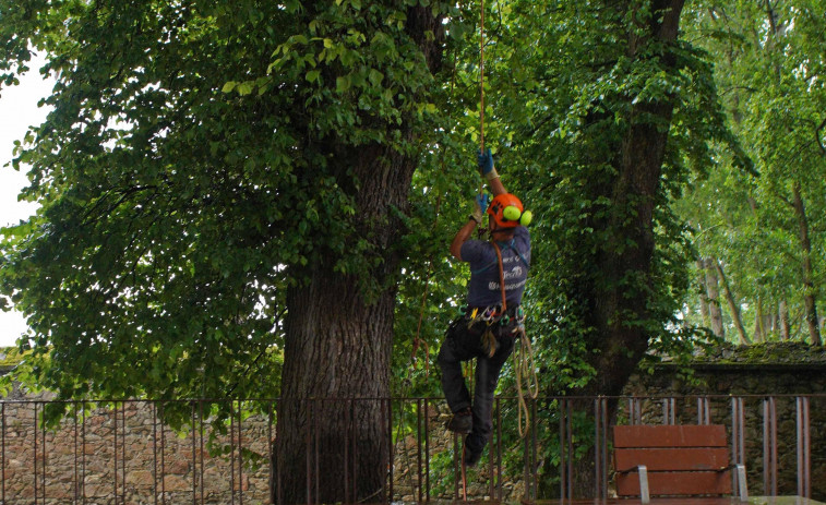
{"label": "topmost reddish-brown slat of the wooden bench backrest", "polygon": [[726,447],[722,424],[614,426],[614,447]]}

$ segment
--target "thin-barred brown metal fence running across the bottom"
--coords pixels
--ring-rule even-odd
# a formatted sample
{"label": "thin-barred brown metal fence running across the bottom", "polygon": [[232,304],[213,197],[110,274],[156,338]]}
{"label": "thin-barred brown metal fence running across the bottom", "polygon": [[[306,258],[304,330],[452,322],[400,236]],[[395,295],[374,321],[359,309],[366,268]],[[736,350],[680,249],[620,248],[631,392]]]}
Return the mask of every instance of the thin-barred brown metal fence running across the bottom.
{"label": "thin-barred brown metal fence running across the bottom", "polygon": [[[467,473],[467,488],[459,465],[463,442],[444,430],[443,399],[335,401],[382,405],[387,474],[376,502],[515,503],[583,493],[607,500],[613,496],[611,428],[638,423],[725,424],[731,460],[745,465],[753,494],[826,497],[824,479],[813,479],[826,476],[826,394],[538,398],[527,404],[530,424],[524,437],[517,400],[501,397],[491,443]],[[278,458],[272,444],[278,406],[266,399],[1,401],[0,503],[271,503],[284,479],[271,465]],[[52,408],[68,412],[53,428],[44,423],[44,411]],[[229,416],[216,424],[218,410]],[[164,423],[170,412],[177,430]],[[316,503],[318,461],[325,448],[312,442],[319,423],[304,428],[302,503]],[[343,444],[347,436],[342,433]],[[350,457],[358,461],[358,455]],[[345,472],[345,489],[352,489],[352,472]]]}

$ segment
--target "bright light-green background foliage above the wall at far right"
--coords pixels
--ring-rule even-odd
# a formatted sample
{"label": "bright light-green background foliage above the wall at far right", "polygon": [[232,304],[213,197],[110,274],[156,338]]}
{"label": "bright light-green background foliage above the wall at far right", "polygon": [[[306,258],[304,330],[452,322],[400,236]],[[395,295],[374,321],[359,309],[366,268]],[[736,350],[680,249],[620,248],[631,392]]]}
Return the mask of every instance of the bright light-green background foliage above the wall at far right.
{"label": "bright light-green background foliage above the wall at far right", "polygon": [[[722,111],[754,170],[743,172],[737,152],[715,145],[717,169],[693,181],[679,212],[697,231],[699,254],[722,264],[744,324],[765,318],[759,322],[762,338],[780,338],[776,321],[781,302],[792,335],[804,338],[803,296],[823,300],[826,151],[818,125],[825,119],[819,76],[826,46],[814,34],[826,28],[824,8],[817,0],[707,5],[693,11],[694,23],[686,25],[716,62]],[[805,207],[802,219],[794,209],[795,187]],[[803,220],[813,289],[803,284]],[[690,299],[695,322],[698,305],[696,297]]]}

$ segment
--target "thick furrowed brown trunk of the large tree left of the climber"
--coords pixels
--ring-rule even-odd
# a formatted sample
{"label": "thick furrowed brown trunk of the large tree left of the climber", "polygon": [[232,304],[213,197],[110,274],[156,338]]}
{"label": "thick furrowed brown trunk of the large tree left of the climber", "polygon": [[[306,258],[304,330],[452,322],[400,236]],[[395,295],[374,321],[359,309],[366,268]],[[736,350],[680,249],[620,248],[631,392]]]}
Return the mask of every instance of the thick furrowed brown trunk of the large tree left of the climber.
{"label": "thick furrowed brown trunk of the large tree left of the climber", "polygon": [[[409,8],[406,31],[435,72],[444,29],[429,7]],[[388,124],[412,142],[411,124]],[[308,125],[308,128],[313,128]],[[393,137],[393,135],[388,135]],[[337,183],[355,199],[356,239],[370,243],[360,272],[343,274],[335,251],[307,266],[287,292],[282,401],[273,452],[274,503],[378,503],[392,464],[390,368],[404,225],[414,153],[320,141]],[[358,188],[354,180],[358,181]],[[298,276],[298,278],[301,278]]]}

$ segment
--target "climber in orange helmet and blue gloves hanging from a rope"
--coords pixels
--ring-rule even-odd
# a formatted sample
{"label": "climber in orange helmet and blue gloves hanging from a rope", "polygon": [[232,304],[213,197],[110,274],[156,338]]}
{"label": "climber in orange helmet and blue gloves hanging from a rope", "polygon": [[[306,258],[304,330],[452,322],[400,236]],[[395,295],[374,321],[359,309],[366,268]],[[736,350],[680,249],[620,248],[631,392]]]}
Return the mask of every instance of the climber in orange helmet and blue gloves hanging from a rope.
{"label": "climber in orange helmet and blue gloves hanging from a rope", "polygon": [[[445,333],[439,351],[442,389],[453,417],[446,428],[465,434],[464,465],[472,467],[488,444],[493,423],[493,393],[502,365],[523,328],[519,306],[530,264],[530,235],[526,229],[531,214],[505,191],[493,166],[490,149],[478,156],[479,171],[488,181],[493,200],[480,194],[467,224],[451,243],[451,254],[469,263],[467,306]],[[487,208],[486,208],[487,207]],[[470,239],[488,215],[491,240]],[[471,402],[462,362],[476,359],[476,390]]]}

